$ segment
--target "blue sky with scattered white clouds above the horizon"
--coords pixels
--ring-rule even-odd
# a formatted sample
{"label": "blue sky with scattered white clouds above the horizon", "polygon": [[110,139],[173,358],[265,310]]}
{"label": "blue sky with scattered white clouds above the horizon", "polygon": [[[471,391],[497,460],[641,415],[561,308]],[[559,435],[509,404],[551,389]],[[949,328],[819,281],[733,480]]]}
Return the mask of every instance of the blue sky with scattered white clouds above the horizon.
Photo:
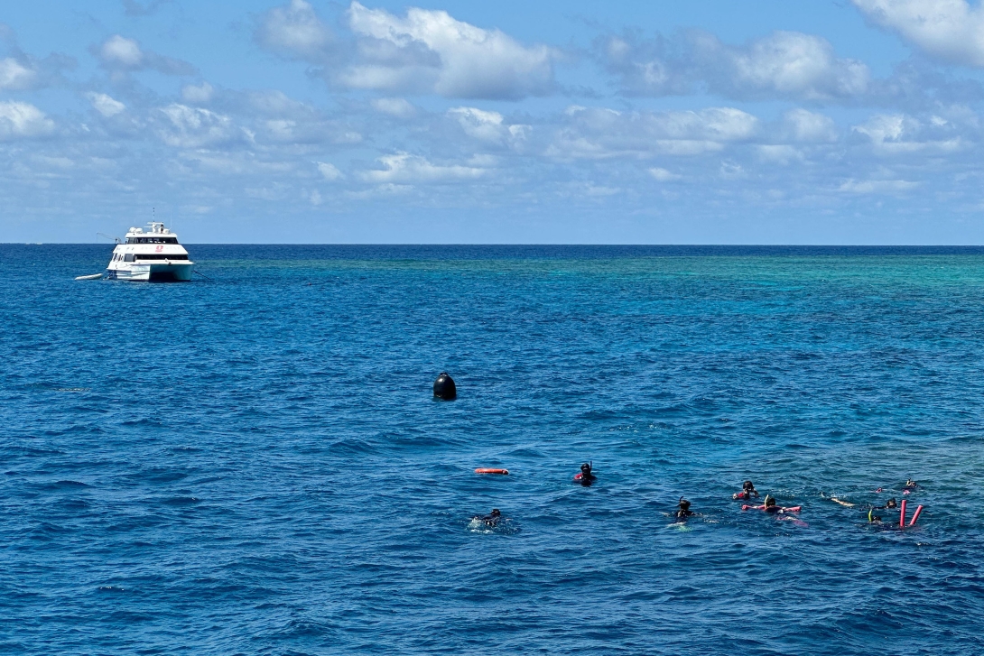
{"label": "blue sky with scattered white clouds above the horizon", "polygon": [[981,244],[982,69],[964,0],[17,3],[0,241]]}

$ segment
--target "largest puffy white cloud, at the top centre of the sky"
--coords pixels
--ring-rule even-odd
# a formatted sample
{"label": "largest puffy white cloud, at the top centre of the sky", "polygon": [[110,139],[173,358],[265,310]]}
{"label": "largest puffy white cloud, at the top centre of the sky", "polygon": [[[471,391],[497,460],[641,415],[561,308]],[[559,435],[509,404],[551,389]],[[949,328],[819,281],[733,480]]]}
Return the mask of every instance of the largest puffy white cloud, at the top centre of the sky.
{"label": "largest puffy white cloud, at the top centre of the sky", "polygon": [[447,97],[521,98],[553,88],[553,51],[524,46],[444,11],[411,8],[405,19],[352,2],[348,23],[360,61],[341,82],[356,89],[406,89]]}

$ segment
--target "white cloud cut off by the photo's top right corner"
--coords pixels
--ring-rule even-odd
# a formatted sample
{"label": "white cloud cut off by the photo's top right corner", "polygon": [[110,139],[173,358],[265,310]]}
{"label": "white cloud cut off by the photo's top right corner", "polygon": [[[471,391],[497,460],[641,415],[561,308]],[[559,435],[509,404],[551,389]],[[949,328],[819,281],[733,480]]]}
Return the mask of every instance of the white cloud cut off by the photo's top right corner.
{"label": "white cloud cut off by the photo's top right corner", "polygon": [[984,6],[965,0],[851,0],[868,18],[927,53],[984,66]]}

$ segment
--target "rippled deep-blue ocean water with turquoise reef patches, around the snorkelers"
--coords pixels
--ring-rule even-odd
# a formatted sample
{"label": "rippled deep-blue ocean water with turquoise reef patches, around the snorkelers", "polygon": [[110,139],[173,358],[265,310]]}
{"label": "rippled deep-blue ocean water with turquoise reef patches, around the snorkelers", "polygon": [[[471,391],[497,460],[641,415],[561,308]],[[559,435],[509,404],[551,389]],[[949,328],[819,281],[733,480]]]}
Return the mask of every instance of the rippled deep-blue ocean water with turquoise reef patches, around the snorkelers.
{"label": "rippled deep-blue ocean water with turquoise reef patches, around the snorkelers", "polygon": [[0,246],[2,653],[984,653],[984,250],[110,250]]}

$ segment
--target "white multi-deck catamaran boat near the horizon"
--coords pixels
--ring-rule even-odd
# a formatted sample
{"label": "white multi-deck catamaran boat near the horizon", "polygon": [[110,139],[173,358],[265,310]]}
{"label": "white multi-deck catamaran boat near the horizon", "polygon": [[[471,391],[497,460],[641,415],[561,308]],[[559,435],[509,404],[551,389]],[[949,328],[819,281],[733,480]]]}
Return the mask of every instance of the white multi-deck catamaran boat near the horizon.
{"label": "white multi-deck catamaran boat near the horizon", "polygon": [[150,227],[130,228],[122,244],[113,249],[106,267],[110,280],[143,280],[150,282],[186,282],[191,280],[194,262],[188,251],[178,244],[178,236],[159,221]]}

